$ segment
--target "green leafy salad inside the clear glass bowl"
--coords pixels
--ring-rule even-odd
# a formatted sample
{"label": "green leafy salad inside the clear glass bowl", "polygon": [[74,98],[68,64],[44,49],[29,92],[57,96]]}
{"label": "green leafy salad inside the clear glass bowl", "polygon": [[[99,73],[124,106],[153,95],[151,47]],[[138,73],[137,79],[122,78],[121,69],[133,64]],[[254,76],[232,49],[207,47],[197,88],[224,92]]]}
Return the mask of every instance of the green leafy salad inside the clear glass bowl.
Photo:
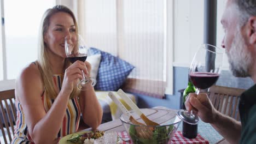
{"label": "green leafy salad inside the clear glass bowl", "polygon": [[155,127],[155,129],[153,130],[152,139],[143,139],[137,135],[136,127],[137,126],[135,125],[131,125],[129,129],[129,134],[131,136],[132,142],[138,144],[166,144],[170,140],[170,135],[172,135],[171,131],[173,131],[173,129],[175,128],[173,127],[173,125]]}

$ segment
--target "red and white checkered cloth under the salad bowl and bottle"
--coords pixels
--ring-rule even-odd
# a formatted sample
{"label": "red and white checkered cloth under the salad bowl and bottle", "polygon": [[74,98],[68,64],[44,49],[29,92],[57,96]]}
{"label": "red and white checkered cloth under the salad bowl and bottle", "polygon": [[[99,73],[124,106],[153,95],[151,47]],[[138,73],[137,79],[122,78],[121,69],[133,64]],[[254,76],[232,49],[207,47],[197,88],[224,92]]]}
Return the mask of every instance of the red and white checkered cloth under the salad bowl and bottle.
{"label": "red and white checkered cloth under the salad bowl and bottle", "polygon": [[[129,137],[126,133],[126,131],[121,131],[118,132],[118,135],[120,137]],[[129,144],[132,143],[131,140],[128,142],[125,141],[121,141],[122,144]],[[187,139],[185,137],[182,136],[182,131],[177,131],[174,136],[172,137],[172,140],[170,140],[168,143],[191,143],[191,144],[209,144],[209,142],[205,139],[203,139],[203,137],[199,134],[197,134],[195,139]]]}

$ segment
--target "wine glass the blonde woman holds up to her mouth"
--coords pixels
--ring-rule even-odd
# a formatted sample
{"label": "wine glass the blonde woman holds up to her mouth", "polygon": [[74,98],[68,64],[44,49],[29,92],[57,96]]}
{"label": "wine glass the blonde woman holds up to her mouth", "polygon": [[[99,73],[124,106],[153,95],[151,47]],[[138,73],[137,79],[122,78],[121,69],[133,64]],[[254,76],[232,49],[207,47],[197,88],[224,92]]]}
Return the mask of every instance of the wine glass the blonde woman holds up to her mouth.
{"label": "wine glass the blonde woman holds up to her mouth", "polygon": [[[85,62],[88,54],[88,47],[86,46],[83,38],[80,35],[68,35],[65,38],[65,51],[67,59],[74,63],[75,61]],[[92,77],[86,77],[83,73],[83,79],[77,84],[78,89],[85,91],[94,87],[96,80]]]}

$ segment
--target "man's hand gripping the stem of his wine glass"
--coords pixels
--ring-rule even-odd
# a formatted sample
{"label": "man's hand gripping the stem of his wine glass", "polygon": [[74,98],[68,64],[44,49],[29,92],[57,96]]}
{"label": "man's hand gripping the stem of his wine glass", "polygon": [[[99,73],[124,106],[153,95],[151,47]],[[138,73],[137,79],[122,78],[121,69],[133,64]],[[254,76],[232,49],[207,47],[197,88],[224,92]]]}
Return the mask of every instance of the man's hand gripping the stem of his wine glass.
{"label": "man's hand gripping the stem of his wine glass", "polygon": [[188,111],[193,110],[203,122],[213,123],[218,115],[206,93],[189,93],[185,106]]}

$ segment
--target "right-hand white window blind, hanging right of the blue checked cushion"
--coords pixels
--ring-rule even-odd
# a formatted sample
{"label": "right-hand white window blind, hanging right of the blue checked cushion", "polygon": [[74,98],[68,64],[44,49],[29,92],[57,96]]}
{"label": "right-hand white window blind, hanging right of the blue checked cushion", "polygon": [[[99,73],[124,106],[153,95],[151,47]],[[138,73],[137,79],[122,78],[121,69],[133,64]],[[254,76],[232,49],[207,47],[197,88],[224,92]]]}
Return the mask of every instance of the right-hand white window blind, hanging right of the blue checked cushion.
{"label": "right-hand white window blind, hanging right of the blue checked cushion", "polygon": [[136,69],[127,89],[162,97],[166,82],[166,4],[164,0],[123,1],[124,47],[120,57]]}

